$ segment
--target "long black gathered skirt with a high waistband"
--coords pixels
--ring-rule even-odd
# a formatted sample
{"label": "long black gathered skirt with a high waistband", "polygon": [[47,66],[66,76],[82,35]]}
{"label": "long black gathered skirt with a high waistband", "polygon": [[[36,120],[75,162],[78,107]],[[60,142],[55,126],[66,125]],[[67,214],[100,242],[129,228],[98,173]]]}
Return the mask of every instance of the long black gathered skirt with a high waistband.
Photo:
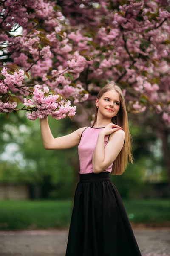
{"label": "long black gathered skirt with a high waistband", "polygon": [[65,256],[142,256],[110,172],[79,178]]}

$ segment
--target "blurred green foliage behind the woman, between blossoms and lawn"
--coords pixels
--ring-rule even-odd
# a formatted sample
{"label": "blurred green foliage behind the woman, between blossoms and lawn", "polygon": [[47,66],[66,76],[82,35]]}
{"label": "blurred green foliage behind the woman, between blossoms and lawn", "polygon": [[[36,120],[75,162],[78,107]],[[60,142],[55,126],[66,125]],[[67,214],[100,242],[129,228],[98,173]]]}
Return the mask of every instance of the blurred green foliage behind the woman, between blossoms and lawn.
{"label": "blurred green foliage behind the woman, between blossoms and lawn", "polygon": [[[48,116],[48,122],[54,138],[79,128],[70,119],[57,121]],[[75,188],[73,161],[79,161],[77,146],[45,150],[39,119],[30,121],[22,111],[20,116],[11,113],[8,120],[0,115],[0,124],[0,182],[34,184],[40,188],[41,198],[72,198]],[[137,198],[144,189],[147,169],[151,175],[155,173],[158,180],[166,181],[167,175],[159,140],[152,128],[136,126],[132,121],[129,124],[134,163],[122,175],[111,175],[111,180],[122,198]],[[6,160],[4,152],[8,156]]]}

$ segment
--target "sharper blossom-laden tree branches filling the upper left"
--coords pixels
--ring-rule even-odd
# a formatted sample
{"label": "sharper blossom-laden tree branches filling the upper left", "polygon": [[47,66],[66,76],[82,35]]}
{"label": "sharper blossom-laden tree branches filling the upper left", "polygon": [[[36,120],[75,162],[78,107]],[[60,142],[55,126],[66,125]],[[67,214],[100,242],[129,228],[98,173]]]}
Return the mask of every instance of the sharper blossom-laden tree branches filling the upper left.
{"label": "sharper blossom-laden tree branches filling the upper left", "polygon": [[[7,0],[0,6],[0,112],[8,115],[23,102],[27,108],[18,110],[31,111],[26,113],[31,120],[74,116],[76,106],[70,107],[70,100],[65,104],[64,99],[74,103],[88,99],[81,81],[72,83],[88,61],[68,44],[59,6],[43,0]],[[14,36],[19,28],[21,35]]]}

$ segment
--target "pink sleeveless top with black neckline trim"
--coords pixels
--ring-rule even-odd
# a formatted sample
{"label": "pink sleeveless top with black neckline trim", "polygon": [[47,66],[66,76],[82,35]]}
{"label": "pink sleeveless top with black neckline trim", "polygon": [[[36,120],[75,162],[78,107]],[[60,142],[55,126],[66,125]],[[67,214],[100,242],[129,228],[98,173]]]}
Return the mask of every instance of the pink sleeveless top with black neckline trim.
{"label": "pink sleeveless top with black neckline trim", "polygon": [[[78,145],[78,154],[79,154],[79,164],[80,164],[80,172],[79,173],[91,173],[93,172],[93,153],[96,147],[98,134],[104,127],[87,127],[81,134],[80,143]],[[108,143],[109,135],[105,135],[104,137],[104,148]],[[103,170],[102,172],[111,172],[112,170],[111,163],[108,168]]]}

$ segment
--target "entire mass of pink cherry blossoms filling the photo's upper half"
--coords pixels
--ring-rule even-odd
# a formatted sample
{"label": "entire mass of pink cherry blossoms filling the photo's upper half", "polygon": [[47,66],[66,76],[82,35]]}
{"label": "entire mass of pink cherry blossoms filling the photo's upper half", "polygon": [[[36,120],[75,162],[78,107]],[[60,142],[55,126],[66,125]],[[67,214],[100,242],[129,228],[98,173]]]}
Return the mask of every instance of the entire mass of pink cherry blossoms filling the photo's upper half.
{"label": "entire mass of pink cherry blossoms filling the photo's upper half", "polygon": [[[114,81],[129,113],[154,117],[168,155],[169,57],[168,0],[0,1],[0,112],[7,116],[71,118],[71,103],[86,105]],[[167,168],[170,179],[170,162]]]}

